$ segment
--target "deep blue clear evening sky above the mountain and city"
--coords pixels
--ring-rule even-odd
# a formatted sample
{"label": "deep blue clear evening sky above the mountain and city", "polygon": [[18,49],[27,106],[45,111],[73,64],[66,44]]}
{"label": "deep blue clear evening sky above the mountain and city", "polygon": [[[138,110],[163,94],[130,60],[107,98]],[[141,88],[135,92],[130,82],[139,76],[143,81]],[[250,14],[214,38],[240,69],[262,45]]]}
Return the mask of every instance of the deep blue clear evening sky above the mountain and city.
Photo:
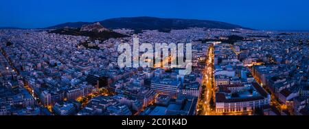
{"label": "deep blue clear evening sky above the mountain and city", "polygon": [[0,0],[0,27],[48,27],[122,16],[207,19],[258,30],[309,30],[309,1]]}

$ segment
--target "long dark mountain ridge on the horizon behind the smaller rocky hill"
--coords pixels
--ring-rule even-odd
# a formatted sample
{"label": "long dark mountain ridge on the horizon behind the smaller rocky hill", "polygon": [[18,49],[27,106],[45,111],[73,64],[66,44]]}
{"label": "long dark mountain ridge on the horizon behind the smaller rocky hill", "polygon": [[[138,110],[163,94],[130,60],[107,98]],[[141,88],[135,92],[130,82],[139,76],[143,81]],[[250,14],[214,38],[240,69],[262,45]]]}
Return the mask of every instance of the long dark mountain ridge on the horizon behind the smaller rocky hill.
{"label": "long dark mountain ridge on the horizon behind the smaller rocky hill", "polygon": [[[119,29],[127,28],[135,30],[135,32],[140,32],[141,30],[159,30],[160,32],[170,32],[170,30],[181,30],[190,27],[206,27],[206,28],[216,28],[216,29],[248,29],[247,27],[242,27],[240,25],[233,25],[230,23],[224,23],[220,21],[207,21],[207,20],[196,20],[196,19],[162,19],[149,16],[139,16],[139,17],[122,17],[115,19],[106,19],[99,22],[108,29]],[[93,23],[88,22],[76,22],[76,23],[63,23],[60,25],[54,25],[52,27],[47,27],[48,29],[58,29],[63,27],[82,27],[82,25],[89,25]]]}

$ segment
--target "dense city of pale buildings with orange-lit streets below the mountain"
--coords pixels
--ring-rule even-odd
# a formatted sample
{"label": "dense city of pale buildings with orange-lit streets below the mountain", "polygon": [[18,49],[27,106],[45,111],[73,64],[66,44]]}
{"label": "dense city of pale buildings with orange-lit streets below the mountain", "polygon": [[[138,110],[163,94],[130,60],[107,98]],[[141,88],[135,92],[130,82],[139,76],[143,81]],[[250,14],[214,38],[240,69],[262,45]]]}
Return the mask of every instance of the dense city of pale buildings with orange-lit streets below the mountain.
{"label": "dense city of pale buildings with orange-lit streets below the mountain", "polygon": [[[309,32],[102,26],[80,31],[124,36],[1,29],[0,115],[309,115]],[[192,72],[119,68],[133,37],[192,43]]]}

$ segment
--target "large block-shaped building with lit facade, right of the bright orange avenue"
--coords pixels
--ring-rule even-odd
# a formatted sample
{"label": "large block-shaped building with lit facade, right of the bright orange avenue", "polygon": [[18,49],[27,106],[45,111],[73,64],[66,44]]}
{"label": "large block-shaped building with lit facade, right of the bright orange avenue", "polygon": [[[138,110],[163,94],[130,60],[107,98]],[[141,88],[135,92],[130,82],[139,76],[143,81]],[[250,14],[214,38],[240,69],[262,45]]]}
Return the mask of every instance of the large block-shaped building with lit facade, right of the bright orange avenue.
{"label": "large block-shaped building with lit facade, right of the bright orange avenue", "polygon": [[271,96],[260,84],[222,85],[216,93],[217,113],[243,113],[269,105]]}

